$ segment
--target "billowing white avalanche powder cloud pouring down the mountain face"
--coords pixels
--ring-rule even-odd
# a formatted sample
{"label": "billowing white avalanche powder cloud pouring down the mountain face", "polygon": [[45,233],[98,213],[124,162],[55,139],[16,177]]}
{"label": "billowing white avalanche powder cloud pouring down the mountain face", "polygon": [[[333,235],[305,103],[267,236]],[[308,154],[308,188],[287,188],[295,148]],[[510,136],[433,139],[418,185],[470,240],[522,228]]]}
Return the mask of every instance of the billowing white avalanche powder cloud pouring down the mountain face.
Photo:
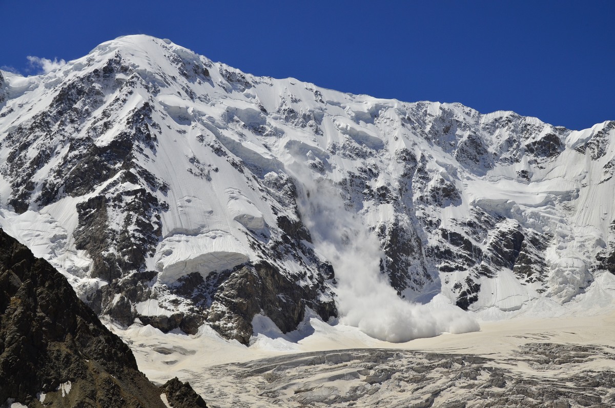
{"label": "billowing white avalanche powder cloud pouring down the mountain face", "polygon": [[301,218],[312,234],[316,250],[333,264],[341,323],[395,343],[480,329],[467,312],[456,306],[434,309],[433,305],[399,298],[386,275],[379,271],[383,253],[375,235],[358,214],[344,207],[339,190],[330,181],[314,180],[305,173],[295,172],[303,189],[298,200]]}

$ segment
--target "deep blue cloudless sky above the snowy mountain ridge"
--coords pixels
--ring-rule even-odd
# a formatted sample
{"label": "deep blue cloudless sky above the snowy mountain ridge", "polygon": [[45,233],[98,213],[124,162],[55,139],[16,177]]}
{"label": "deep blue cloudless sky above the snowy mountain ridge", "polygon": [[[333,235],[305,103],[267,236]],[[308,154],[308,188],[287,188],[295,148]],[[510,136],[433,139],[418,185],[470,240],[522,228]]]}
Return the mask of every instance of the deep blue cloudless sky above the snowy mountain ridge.
{"label": "deep blue cloudless sky above the snowy mountain ridge", "polygon": [[[0,66],[143,33],[255,75],[408,102],[615,120],[615,1],[0,0]],[[33,73],[33,71],[30,71]]]}

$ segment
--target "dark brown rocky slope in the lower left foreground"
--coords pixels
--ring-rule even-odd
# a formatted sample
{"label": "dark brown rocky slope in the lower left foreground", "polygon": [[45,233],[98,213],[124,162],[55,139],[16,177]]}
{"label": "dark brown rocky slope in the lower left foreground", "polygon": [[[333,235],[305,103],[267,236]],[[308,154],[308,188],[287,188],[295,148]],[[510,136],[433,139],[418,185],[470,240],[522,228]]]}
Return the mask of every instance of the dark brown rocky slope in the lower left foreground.
{"label": "dark brown rocky slope in the lower left foreground", "polygon": [[177,378],[158,387],[65,277],[0,230],[0,404],[206,407]]}

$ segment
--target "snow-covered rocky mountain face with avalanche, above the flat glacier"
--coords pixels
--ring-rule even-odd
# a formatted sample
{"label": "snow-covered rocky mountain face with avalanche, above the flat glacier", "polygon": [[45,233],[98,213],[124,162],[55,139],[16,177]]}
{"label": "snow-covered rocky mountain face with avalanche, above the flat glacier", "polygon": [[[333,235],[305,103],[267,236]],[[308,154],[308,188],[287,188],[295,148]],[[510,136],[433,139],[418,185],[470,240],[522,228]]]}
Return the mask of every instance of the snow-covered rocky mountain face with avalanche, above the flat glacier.
{"label": "snow-covered rocky mountain face with avalanche, above the flat glacier", "polygon": [[400,341],[615,273],[615,121],[344,94],[141,35],[0,75],[0,224],[124,325],[247,343],[315,312]]}

